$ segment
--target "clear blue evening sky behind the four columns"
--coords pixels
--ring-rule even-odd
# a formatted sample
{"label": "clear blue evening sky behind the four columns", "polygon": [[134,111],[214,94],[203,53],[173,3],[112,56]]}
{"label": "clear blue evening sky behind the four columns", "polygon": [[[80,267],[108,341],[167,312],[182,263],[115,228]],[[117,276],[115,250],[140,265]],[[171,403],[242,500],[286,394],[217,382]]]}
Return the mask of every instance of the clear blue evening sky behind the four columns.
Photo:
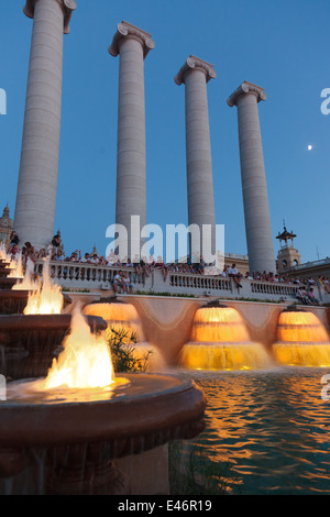
{"label": "clear blue evening sky behind the four columns", "polygon": [[[0,0],[0,210],[14,215],[32,21],[24,0]],[[77,0],[64,36],[61,155],[55,231],[65,251],[100,254],[114,221],[119,58],[108,54],[117,24],[150,32],[145,61],[147,222],[187,224],[184,86],[174,76],[194,54],[215,65],[208,84],[217,223],[226,252],[246,253],[237,109],[243,81],[264,87],[258,105],[275,240],[297,233],[302,262],[329,255],[330,88],[328,0]],[[314,147],[308,151],[308,145]]]}

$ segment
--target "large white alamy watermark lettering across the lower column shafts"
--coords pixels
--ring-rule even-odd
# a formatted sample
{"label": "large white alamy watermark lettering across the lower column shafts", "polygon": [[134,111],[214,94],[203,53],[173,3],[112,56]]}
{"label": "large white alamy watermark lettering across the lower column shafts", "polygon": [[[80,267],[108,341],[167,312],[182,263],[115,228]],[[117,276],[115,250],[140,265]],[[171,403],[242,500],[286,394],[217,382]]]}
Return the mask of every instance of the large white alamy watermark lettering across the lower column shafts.
{"label": "large white alamy watermark lettering across the lower column shafts", "polygon": [[198,224],[166,224],[164,234],[158,224],[141,228],[140,217],[131,216],[129,230],[123,224],[110,224],[106,238],[112,239],[106,256],[116,250],[116,257],[121,263],[125,263],[128,256],[135,262],[153,255],[164,257],[166,263],[204,262],[209,266],[209,274],[223,271],[224,224],[202,224],[201,228]]}

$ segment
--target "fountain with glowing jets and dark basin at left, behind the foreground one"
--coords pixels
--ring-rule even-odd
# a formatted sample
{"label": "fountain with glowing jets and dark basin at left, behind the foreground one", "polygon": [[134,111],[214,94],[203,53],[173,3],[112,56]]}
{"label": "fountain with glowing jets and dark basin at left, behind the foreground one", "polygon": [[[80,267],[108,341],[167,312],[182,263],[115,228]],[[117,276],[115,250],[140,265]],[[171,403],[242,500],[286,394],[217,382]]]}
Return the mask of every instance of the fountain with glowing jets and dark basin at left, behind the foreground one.
{"label": "fountain with glowing jets and dark basin at left, behind the foreground one", "polygon": [[[48,262],[42,283],[26,275],[14,286],[18,290],[0,290],[0,367],[2,374],[14,380],[47,374],[72,321],[72,315],[62,314],[70,299],[52,283]],[[88,322],[96,332],[106,328],[101,318],[91,316]]]}

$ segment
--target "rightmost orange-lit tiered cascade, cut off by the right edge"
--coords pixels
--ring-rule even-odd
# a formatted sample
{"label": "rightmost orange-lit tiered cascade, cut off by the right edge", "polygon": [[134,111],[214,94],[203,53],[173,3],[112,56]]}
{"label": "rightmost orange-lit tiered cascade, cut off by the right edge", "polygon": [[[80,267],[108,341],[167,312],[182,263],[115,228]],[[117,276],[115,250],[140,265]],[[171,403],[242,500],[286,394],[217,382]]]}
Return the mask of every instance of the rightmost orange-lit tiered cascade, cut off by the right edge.
{"label": "rightmost orange-lit tiered cascade, cut off by the right edge", "polygon": [[330,366],[330,340],[326,327],[314,312],[297,306],[280,312],[273,351],[284,365]]}

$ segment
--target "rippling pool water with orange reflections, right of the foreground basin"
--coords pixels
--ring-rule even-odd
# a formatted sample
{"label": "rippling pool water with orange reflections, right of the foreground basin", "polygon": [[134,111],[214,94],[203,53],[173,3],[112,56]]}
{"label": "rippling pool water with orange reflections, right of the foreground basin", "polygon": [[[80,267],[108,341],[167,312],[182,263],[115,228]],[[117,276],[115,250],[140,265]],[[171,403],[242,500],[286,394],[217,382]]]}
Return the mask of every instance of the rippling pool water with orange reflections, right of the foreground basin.
{"label": "rippling pool water with orange reflections, right of the foreground basin", "polygon": [[330,402],[321,398],[329,372],[186,372],[208,399],[195,447],[230,463],[231,493],[330,494]]}

